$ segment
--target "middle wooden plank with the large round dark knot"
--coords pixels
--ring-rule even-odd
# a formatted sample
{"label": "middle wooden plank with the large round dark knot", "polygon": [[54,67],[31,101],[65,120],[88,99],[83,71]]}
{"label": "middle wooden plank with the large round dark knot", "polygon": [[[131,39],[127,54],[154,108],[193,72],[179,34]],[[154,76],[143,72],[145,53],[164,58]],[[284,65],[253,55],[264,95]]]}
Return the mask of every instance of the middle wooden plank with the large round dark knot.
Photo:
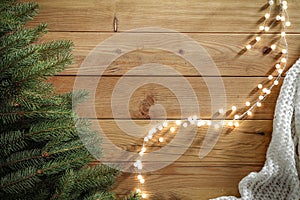
{"label": "middle wooden plank with the large round dark knot", "polygon": [[[119,83],[120,77],[102,77],[98,83],[99,77],[97,76],[56,76],[50,78],[50,81],[56,86],[57,92],[67,92],[73,89],[75,79],[77,80],[76,90],[90,91],[91,97],[95,95],[94,103],[92,99],[88,99],[81,104],[78,113],[82,117],[95,118],[92,107],[95,104],[97,118],[112,118],[114,114],[114,118],[123,119],[148,119],[150,116],[152,118],[174,119],[197,114],[195,113],[197,109],[200,110],[200,117],[205,119],[216,114],[215,112],[224,106],[221,103],[221,100],[224,99],[227,99],[228,109],[232,105],[238,108],[237,112],[228,113],[228,117],[233,118],[234,114],[241,113],[246,101],[257,100],[261,94],[257,90],[257,84],[265,81],[265,78],[258,77],[222,77],[222,79],[205,77],[205,80],[202,77],[122,77],[122,82]],[[149,83],[140,84],[145,81]],[[159,85],[159,81],[165,85]],[[212,105],[218,110],[211,111],[211,95],[220,91],[222,85],[219,83],[221,81],[223,81],[225,91],[223,94],[214,95],[214,104]],[[117,86],[122,91],[116,92]],[[263,106],[254,111],[251,119],[273,118],[279,88],[280,85],[273,89]],[[128,94],[125,94],[125,91]],[[93,94],[94,92],[95,94]],[[112,98],[113,94],[117,96]],[[127,105],[129,105],[129,109],[126,109]],[[165,111],[161,106],[164,107]],[[114,112],[112,108],[115,109]]]}

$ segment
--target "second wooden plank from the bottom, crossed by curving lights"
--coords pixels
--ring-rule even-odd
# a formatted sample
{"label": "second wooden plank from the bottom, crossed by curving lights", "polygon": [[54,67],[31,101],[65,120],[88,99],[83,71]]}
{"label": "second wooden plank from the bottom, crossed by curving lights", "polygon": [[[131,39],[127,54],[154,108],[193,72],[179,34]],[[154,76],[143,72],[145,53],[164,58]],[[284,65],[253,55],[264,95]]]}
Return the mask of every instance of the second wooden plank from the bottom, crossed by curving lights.
{"label": "second wooden plank from the bottom, crossed by curving lights", "polygon": [[[144,128],[145,133],[134,131],[126,132],[122,130],[113,120],[98,120],[93,121],[100,124],[102,133],[110,140],[116,147],[121,148],[128,152],[139,152],[143,143],[143,136],[147,133],[147,128]],[[125,121],[126,122],[126,121]],[[130,122],[130,121],[127,121]],[[144,127],[149,123],[147,120],[134,121],[140,127]],[[124,121],[123,121],[124,123]],[[129,124],[129,123],[128,123]],[[126,124],[123,124],[125,126]],[[241,166],[248,166],[251,169],[255,166],[261,166],[265,161],[265,154],[269,145],[272,133],[272,120],[245,120],[238,128],[231,129],[224,127],[219,135],[216,144],[213,146],[210,153],[204,158],[199,158],[199,150],[203,147],[203,140],[207,136],[207,127],[200,127],[197,130],[194,138],[191,138],[191,145],[182,144],[186,141],[185,137],[191,135],[191,129],[180,130],[180,134],[169,133],[166,134],[167,129],[162,131],[162,134],[158,134],[148,143],[147,152],[144,157],[160,156],[160,160],[145,160],[144,168],[150,169],[151,165],[155,165],[155,162],[163,163],[164,165],[171,164],[159,171],[158,174],[203,174],[203,170],[206,167],[230,167],[239,168]],[[158,142],[158,138],[165,138],[163,143]],[[102,135],[103,136],[103,135]],[[102,137],[103,138],[103,137]],[[175,138],[177,142],[175,141]],[[174,142],[175,141],[175,142]],[[179,141],[179,142],[178,142]],[[171,143],[172,142],[172,143]],[[106,152],[110,149],[114,149],[111,144],[106,145],[106,141],[103,141],[103,145]],[[172,148],[169,152],[159,152],[158,150],[164,146]],[[243,154],[241,154],[243,152]],[[147,155],[148,154],[148,155]],[[138,155],[138,154],[136,154]],[[106,154],[108,158],[111,156]],[[174,160],[174,157],[178,159]],[[132,162],[130,157],[122,157],[121,160],[114,159],[119,164],[125,164],[126,162]],[[134,159],[133,159],[134,160]],[[109,162],[110,160],[101,159],[102,162]],[[95,162],[94,164],[96,164]],[[197,171],[196,168],[201,168]],[[128,168],[134,170],[134,168]],[[221,175],[222,173],[214,172]],[[152,174],[157,174],[152,172]],[[204,173],[205,174],[205,173]]]}

